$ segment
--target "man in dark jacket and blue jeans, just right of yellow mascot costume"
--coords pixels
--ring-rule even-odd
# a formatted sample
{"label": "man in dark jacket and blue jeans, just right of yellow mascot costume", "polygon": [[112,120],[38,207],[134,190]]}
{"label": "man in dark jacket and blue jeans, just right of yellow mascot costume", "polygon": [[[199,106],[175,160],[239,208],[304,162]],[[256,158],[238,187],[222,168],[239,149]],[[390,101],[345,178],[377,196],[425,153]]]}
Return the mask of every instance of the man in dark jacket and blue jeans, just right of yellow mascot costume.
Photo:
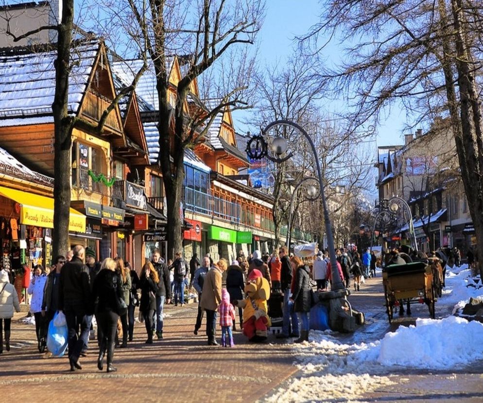
{"label": "man in dark jacket and blue jeans, just right of yellow mascot costume", "polygon": [[[280,262],[282,263],[282,270],[280,272],[280,284],[283,293],[283,324],[282,332],[276,335],[277,339],[286,339],[287,337],[299,337],[298,319],[295,312],[293,312],[293,302],[290,300],[292,285],[292,264],[290,263],[287,247],[280,248],[278,253]],[[292,332],[290,332],[290,319],[292,318]]]}

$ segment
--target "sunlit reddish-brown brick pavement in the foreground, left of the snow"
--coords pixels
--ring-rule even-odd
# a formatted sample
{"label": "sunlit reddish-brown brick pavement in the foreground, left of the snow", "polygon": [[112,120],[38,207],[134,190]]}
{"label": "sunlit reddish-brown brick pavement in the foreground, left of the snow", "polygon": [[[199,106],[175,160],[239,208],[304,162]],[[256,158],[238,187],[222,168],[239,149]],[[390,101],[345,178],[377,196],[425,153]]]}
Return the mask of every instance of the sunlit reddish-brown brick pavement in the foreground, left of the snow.
{"label": "sunlit reddish-brown brick pavement in the foreground, left of the snow", "polygon": [[97,369],[94,341],[80,360],[83,369],[72,373],[65,357],[43,359],[34,326],[15,321],[11,351],[0,356],[0,401],[253,402],[297,370],[289,344],[249,344],[236,331],[235,348],[208,347],[202,331],[192,332],[196,304],[165,313],[164,340],[144,344],[144,326],[137,324],[129,348],[116,349],[118,372],[110,374]]}

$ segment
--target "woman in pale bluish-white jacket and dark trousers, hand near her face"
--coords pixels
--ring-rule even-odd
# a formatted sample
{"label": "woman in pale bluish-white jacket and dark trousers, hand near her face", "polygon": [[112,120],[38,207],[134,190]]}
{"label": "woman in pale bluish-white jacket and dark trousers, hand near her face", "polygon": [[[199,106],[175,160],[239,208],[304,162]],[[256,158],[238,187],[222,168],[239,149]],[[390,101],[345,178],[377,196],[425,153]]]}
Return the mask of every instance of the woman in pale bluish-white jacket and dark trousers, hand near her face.
{"label": "woman in pale bluish-white jacket and dark trousers, hand near her face", "polygon": [[39,352],[44,352],[47,346],[47,321],[45,312],[42,314],[42,301],[46,282],[47,275],[45,274],[45,270],[42,265],[37,264],[34,268],[34,277],[30,282],[27,292],[32,295],[30,311],[35,317],[35,333],[37,335],[37,348]]}

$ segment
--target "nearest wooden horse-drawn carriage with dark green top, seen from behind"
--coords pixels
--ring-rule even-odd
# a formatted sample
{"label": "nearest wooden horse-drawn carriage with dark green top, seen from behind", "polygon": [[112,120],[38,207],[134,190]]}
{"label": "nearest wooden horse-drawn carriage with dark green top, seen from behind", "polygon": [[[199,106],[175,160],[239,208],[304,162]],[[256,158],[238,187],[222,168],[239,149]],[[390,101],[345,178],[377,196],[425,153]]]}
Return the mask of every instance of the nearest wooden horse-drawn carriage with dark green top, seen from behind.
{"label": "nearest wooden horse-drawn carriage with dark green top, seen from behind", "polygon": [[389,323],[393,319],[394,309],[397,306],[402,309],[403,302],[408,304],[408,314],[410,304],[425,303],[434,319],[437,291],[434,285],[434,268],[428,263],[430,262],[418,261],[385,267],[382,284]]}

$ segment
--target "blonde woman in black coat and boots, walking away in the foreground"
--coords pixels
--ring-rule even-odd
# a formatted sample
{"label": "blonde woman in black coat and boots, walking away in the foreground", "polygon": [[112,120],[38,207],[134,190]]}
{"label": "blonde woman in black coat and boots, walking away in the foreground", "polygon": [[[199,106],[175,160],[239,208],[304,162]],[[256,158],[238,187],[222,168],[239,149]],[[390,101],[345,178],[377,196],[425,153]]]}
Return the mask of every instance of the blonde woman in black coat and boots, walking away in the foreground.
{"label": "blonde woman in black coat and boots, walking away in the foreground", "polygon": [[119,319],[119,298],[122,298],[121,278],[116,273],[117,263],[104,259],[101,270],[96,275],[92,285],[92,300],[98,300],[96,307],[97,340],[99,343],[99,358],[97,367],[104,368],[104,355],[107,350],[107,372],[115,372],[112,366],[114,343]]}

